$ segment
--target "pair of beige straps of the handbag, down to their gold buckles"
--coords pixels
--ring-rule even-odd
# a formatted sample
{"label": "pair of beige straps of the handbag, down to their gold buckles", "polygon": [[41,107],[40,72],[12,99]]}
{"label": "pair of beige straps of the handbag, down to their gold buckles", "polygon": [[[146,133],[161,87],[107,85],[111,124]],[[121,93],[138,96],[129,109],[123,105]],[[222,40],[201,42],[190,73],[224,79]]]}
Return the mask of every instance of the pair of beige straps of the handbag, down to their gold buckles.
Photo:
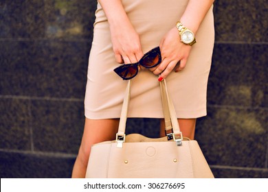
{"label": "pair of beige straps of the handbag, down to their gold buckles", "polygon": [[[166,135],[168,140],[173,139],[176,141],[177,146],[181,145],[181,141],[183,140],[183,136],[181,131],[179,130],[179,123],[177,121],[177,115],[175,112],[175,108],[172,104],[172,100],[168,95],[168,89],[166,87],[166,80],[160,82],[161,88],[161,98],[164,112],[164,119],[166,125]],[[127,111],[129,108],[129,99],[131,95],[131,80],[129,80],[126,86],[126,92],[124,96],[124,101],[122,105],[122,111],[120,115],[120,122],[118,127],[118,133],[116,134],[116,141],[118,143],[118,147],[122,148],[123,143],[126,137],[126,119],[127,119]]]}

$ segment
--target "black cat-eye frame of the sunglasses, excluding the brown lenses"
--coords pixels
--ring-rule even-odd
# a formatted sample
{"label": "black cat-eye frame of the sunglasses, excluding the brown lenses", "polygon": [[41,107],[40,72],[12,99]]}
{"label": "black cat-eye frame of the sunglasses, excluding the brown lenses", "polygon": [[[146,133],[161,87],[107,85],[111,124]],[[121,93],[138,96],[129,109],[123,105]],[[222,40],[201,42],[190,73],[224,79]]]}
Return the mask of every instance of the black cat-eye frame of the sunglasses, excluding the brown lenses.
{"label": "black cat-eye frame of the sunglasses, excluding the brown lenses", "polygon": [[[142,64],[142,61],[145,60],[146,57],[150,56],[150,54],[155,53],[155,52],[157,53],[158,62],[152,66],[149,66],[149,67],[144,66],[144,64]],[[161,63],[161,61],[162,61],[162,59],[161,59],[160,48],[155,47],[155,48],[151,49],[150,51],[148,51],[147,53],[145,53],[144,56],[142,56],[142,58],[138,62],[129,63],[129,64],[122,64],[120,67],[113,69],[113,71],[115,71],[116,74],[118,74],[120,77],[122,77],[123,80],[131,80],[133,77],[135,77],[137,75],[137,73],[139,71],[139,69],[138,69],[139,64],[142,65],[142,67],[150,69],[150,68],[156,67],[158,64]],[[130,67],[133,67],[136,72],[131,77],[126,77],[126,75],[128,75],[130,73],[130,71],[129,71]],[[124,71],[125,71],[124,75],[121,75],[122,72],[124,72]]]}

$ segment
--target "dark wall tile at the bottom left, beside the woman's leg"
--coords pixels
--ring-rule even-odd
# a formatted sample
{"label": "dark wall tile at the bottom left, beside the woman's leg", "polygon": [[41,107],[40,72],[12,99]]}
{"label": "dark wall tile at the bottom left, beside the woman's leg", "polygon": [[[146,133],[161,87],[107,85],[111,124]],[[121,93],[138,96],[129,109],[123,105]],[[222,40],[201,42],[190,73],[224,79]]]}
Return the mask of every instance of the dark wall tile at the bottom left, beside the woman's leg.
{"label": "dark wall tile at the bottom left, beside the woman's leg", "polygon": [[0,152],[1,178],[71,178],[74,158]]}

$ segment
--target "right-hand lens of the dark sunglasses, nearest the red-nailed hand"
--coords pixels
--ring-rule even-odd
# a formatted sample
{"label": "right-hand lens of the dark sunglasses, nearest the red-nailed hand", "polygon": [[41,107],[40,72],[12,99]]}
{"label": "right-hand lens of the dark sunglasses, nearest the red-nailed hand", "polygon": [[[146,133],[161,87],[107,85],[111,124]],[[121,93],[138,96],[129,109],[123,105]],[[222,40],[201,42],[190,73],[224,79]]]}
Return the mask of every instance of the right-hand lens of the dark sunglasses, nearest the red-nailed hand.
{"label": "right-hand lens of the dark sunglasses, nearest the red-nailed hand", "polygon": [[144,55],[144,58],[140,60],[139,64],[143,67],[151,68],[157,66],[161,62],[160,51],[153,49]]}

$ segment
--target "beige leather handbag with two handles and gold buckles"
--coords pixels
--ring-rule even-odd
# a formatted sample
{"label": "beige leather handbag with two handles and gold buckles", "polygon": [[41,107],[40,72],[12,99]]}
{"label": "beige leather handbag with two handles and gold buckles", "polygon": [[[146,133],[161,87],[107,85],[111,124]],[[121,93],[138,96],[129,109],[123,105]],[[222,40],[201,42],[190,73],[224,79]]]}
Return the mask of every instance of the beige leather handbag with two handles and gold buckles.
{"label": "beige leather handbag with two handles and gold buckles", "polygon": [[167,136],[125,135],[129,80],[116,140],[91,147],[86,178],[214,178],[197,141],[182,137],[166,81],[160,86]]}

